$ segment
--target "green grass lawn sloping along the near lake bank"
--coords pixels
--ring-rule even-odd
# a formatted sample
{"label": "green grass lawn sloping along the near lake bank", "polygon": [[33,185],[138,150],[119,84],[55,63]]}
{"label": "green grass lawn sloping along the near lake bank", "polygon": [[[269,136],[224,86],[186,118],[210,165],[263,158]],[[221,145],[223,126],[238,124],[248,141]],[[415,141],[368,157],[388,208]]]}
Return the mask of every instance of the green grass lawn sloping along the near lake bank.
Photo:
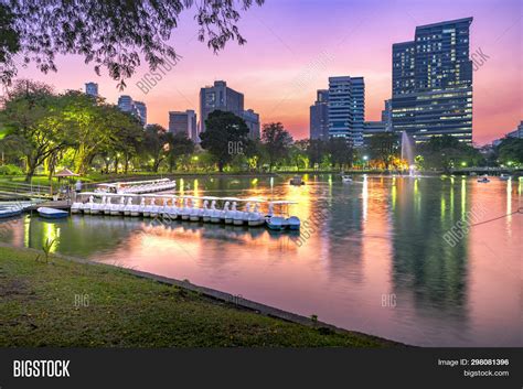
{"label": "green grass lawn sloping along the near lake bank", "polygon": [[[263,316],[126,270],[0,247],[0,347],[387,347]],[[88,306],[75,304],[87,295]]]}

